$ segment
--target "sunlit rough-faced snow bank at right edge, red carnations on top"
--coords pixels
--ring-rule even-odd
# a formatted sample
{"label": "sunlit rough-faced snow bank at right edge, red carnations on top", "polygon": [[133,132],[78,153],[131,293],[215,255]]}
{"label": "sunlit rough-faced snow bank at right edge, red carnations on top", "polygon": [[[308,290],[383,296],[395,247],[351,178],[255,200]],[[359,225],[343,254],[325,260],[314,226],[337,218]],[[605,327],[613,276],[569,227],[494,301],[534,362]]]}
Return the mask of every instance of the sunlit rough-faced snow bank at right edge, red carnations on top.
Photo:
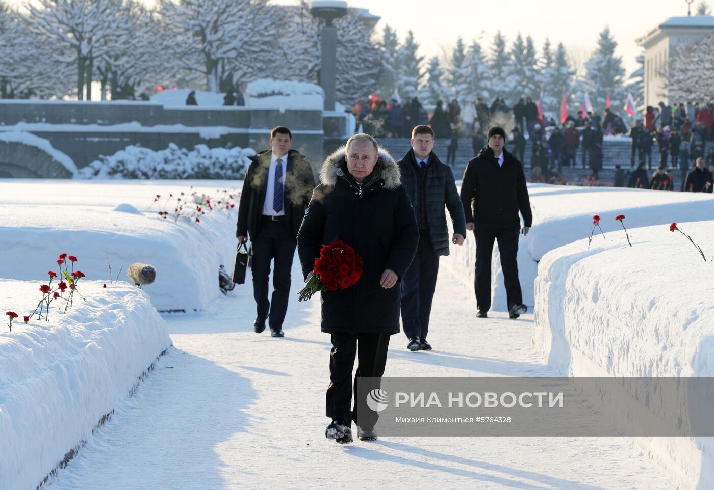
{"label": "sunlit rough-faced snow bank at right edge, red carnations on top", "polygon": [[[680,205],[677,214],[696,215],[701,207]],[[714,257],[714,222],[679,225]],[[573,376],[714,376],[714,262],[665,224],[636,228],[630,240],[633,247],[616,231],[596,237],[590,250],[585,238],[542,257],[535,349]],[[637,441],[683,488],[710,488],[714,439]]]}

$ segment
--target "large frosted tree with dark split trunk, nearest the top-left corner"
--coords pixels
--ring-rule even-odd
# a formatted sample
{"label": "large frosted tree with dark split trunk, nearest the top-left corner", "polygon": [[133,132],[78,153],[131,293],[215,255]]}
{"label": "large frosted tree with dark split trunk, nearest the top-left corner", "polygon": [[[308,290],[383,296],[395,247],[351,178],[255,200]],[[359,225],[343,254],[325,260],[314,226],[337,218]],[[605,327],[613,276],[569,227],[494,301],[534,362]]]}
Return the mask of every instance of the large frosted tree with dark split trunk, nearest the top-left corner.
{"label": "large frosted tree with dark split trunk, nearest the top-left corner", "polygon": [[[45,42],[64,46],[64,61],[76,66],[77,98],[91,98],[94,62],[106,54],[109,41],[127,30],[121,14],[124,0],[36,0],[28,1],[27,24]],[[70,48],[70,50],[66,49]]]}

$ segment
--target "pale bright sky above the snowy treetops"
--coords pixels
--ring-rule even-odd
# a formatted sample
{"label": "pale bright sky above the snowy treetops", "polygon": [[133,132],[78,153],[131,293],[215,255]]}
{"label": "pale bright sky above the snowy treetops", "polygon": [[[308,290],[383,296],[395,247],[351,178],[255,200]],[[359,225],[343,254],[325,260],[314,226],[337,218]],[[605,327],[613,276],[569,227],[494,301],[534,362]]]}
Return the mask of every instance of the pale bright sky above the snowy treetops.
{"label": "pale bright sky above the snowy treetops", "polygon": [[[709,0],[714,3],[714,0]],[[154,4],[154,0],[145,0]],[[694,0],[693,12],[700,0]],[[24,0],[9,0],[21,5]],[[277,0],[296,4],[296,0]],[[685,0],[349,0],[354,7],[381,16],[377,30],[389,24],[401,39],[409,29],[427,58],[451,53],[458,36],[469,44],[478,39],[488,52],[499,29],[512,41],[520,31],[533,36],[540,49],[546,37],[553,45],[562,42],[573,60],[582,64],[595,49],[598,34],[606,25],[618,42],[617,53],[628,71],[637,68],[640,48],[635,39],[672,16],[687,15]]]}

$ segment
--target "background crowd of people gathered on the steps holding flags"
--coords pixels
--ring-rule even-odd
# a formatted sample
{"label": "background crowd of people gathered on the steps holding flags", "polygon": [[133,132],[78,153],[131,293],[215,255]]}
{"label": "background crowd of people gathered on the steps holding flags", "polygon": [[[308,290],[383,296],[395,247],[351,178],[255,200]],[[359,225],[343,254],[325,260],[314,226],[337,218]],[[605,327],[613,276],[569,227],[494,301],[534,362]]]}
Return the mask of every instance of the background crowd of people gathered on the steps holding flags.
{"label": "background crowd of people gathered on the steps holding flags", "polygon": [[[437,101],[430,116],[417,97],[405,103],[392,98],[387,103],[373,93],[358,99],[353,114],[356,131],[361,126],[363,131],[382,138],[406,137],[408,128],[430,126],[436,138],[448,139],[448,165],[456,163],[459,138],[471,136],[473,154],[477,155],[486,144],[482,128],[494,124],[511,127],[508,145],[523,163],[531,163],[533,181],[565,183],[563,166],[575,168],[579,163],[581,168],[590,170],[586,183],[600,183],[606,157],[603,138],[618,135],[630,136],[632,150],[628,170],[615,166],[614,186],[673,190],[672,174],[678,172],[679,190],[693,190],[698,186],[689,185],[690,178],[704,173],[702,178],[706,180],[714,171],[714,148],[706,153],[707,141],[714,141],[714,104],[688,102],[668,106],[660,102],[657,107],[648,106],[644,118],[635,121],[631,128],[611,108],[605,108],[602,116],[595,111],[578,111],[558,124],[547,118],[531,97],[520,98],[511,107],[503,98],[494,99],[490,106],[481,97],[463,106],[456,100],[446,105]],[[531,155],[526,155],[528,141],[533,142]],[[698,170],[699,158],[703,159],[703,170]],[[644,170],[640,169],[643,163]],[[710,191],[711,187],[704,190]]]}

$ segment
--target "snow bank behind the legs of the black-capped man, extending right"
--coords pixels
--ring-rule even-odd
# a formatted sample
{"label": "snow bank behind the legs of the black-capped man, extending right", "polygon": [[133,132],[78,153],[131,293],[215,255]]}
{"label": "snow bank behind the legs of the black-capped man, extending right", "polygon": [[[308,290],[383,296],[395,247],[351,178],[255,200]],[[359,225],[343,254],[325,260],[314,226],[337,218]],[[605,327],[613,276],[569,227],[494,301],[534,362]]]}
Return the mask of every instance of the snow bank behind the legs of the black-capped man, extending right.
{"label": "snow bank behind the legs of the black-capped man, extending right", "polygon": [[[535,304],[533,283],[538,275],[540,257],[549,250],[587,238],[593,215],[603,218],[600,225],[605,233],[621,229],[620,223],[615,221],[615,216],[619,214],[627,216],[625,225],[628,228],[669,225],[677,220],[708,220],[714,216],[714,199],[703,193],[532,183],[528,184],[528,193],[533,209],[533,228],[528,236],[521,235],[518,245],[518,272],[523,302],[528,307]],[[637,233],[637,230],[633,230],[630,236],[634,234],[636,237]],[[462,277],[464,284],[473,290],[476,240],[473,233],[467,235],[463,247],[452,245],[451,255],[442,262],[457,277]],[[646,267],[648,258],[640,257],[640,264]],[[493,247],[491,271],[491,308],[506,310],[506,288],[503,286],[501,257],[497,246]]]}

